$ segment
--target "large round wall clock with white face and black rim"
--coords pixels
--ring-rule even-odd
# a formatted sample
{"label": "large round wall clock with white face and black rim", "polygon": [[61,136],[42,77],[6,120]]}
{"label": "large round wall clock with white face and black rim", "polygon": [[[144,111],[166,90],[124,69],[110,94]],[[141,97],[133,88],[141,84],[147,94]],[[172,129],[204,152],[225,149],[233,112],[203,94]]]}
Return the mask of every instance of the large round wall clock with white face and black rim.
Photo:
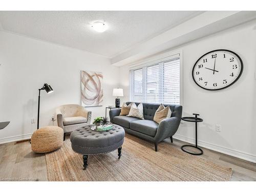
{"label": "large round wall clock with white face and black rim", "polygon": [[207,90],[231,86],[243,72],[243,62],[234,52],[214,50],[204,54],[195,63],[192,76],[197,85]]}

